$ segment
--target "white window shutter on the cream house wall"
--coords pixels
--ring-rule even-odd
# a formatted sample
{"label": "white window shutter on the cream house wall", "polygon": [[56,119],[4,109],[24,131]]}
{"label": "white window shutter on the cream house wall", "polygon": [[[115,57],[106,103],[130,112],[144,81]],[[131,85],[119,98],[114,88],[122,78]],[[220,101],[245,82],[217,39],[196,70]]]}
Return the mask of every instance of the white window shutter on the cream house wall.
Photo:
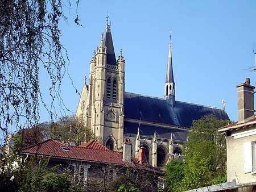
{"label": "white window shutter on the cream house wall", "polygon": [[243,143],[243,157],[245,173],[253,171],[253,150],[251,147],[251,141]]}

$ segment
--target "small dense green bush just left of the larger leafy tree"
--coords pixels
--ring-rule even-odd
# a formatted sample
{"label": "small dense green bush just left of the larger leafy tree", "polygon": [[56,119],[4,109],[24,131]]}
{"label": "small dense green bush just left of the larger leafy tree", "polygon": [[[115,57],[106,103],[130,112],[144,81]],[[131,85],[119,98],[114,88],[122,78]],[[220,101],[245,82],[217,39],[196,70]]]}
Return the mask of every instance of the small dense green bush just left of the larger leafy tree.
{"label": "small dense green bush just left of the larger leafy tree", "polygon": [[179,191],[180,183],[184,178],[184,162],[171,161],[166,165],[166,187],[168,191]]}

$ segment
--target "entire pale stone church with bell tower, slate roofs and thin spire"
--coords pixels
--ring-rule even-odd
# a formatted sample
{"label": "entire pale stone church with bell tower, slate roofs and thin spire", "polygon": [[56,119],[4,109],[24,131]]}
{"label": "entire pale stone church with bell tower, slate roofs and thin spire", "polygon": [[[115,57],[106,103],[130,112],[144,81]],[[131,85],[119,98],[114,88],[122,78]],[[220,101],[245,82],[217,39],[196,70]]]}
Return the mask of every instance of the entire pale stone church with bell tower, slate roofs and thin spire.
{"label": "entire pale stone church with bell tower, slate roofs and thin spire", "polygon": [[98,141],[110,150],[122,151],[128,138],[132,156],[138,158],[138,149],[143,147],[146,162],[161,167],[179,158],[193,120],[210,114],[229,119],[224,108],[176,101],[171,36],[163,87],[164,98],[125,92],[125,59],[122,49],[115,56],[107,18],[105,36],[102,32],[100,47],[90,60],[89,83],[85,78],[76,116],[82,116]]}

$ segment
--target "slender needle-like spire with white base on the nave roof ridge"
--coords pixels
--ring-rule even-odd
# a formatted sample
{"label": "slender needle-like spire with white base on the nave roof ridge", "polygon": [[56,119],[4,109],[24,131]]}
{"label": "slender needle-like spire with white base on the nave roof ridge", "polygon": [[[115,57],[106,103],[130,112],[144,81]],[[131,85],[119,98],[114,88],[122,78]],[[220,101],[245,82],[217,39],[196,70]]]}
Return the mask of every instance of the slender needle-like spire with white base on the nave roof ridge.
{"label": "slender needle-like spire with white base on the nave roof ridge", "polygon": [[170,101],[170,104],[175,102],[175,82],[174,82],[174,72],[172,70],[172,45],[171,45],[171,31],[170,31],[170,44],[169,44],[169,56],[168,65],[166,72],[166,83],[164,84],[165,89],[165,99]]}

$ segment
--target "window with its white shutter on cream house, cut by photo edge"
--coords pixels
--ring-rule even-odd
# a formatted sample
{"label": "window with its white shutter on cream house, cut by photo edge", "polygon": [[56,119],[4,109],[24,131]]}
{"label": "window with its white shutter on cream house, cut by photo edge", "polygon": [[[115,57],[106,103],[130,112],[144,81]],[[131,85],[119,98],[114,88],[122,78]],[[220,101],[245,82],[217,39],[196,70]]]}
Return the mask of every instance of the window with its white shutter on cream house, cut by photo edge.
{"label": "window with its white shutter on cream house, cut by photo edge", "polygon": [[245,173],[256,172],[256,142],[249,141],[243,144]]}

